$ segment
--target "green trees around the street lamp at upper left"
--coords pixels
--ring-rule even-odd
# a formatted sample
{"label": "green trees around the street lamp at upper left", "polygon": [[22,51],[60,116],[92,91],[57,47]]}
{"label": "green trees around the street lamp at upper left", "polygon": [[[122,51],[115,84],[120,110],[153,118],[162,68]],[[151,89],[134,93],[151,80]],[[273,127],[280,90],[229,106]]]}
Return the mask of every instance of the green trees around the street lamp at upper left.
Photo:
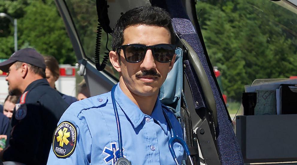
{"label": "green trees around the street lamp at upper left", "polygon": [[[18,49],[32,47],[41,54],[55,56],[62,64],[75,63],[70,39],[54,1],[6,0],[0,2],[0,11],[18,19]],[[14,51],[13,25],[10,21],[4,23],[0,58],[9,58]]]}

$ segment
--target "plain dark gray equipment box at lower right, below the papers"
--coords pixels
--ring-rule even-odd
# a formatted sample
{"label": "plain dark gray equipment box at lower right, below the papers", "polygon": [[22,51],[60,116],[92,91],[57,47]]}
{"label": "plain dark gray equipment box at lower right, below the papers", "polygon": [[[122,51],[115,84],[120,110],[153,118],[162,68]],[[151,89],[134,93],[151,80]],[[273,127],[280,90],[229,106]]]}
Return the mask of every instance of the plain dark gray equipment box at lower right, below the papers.
{"label": "plain dark gray equipment box at lower right, below the papers", "polygon": [[236,117],[244,163],[297,161],[297,115]]}

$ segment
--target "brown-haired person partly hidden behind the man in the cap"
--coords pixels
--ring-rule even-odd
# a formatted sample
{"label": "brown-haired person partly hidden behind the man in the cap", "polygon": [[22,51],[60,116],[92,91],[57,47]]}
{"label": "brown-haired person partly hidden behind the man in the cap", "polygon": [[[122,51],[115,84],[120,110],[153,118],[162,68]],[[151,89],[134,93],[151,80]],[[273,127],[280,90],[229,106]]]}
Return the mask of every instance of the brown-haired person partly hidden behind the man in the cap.
{"label": "brown-haired person partly hidden behind the man in the cap", "polygon": [[[45,69],[46,79],[49,82],[49,85],[52,88],[56,89],[55,82],[58,80],[60,76],[59,63],[57,59],[51,55],[44,56],[44,62],[46,64],[46,69]],[[68,103],[68,105],[77,101],[75,97],[64,95],[61,92],[59,92],[59,94],[62,96],[64,101]]]}

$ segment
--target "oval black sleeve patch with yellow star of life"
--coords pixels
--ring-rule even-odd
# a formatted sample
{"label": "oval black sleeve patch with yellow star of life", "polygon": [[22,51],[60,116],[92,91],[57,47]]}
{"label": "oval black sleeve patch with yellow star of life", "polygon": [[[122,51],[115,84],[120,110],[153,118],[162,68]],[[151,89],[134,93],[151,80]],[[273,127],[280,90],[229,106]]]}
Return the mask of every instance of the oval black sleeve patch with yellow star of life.
{"label": "oval black sleeve patch with yellow star of life", "polygon": [[64,121],[54,132],[52,149],[58,158],[69,157],[76,147],[77,131],[71,122]]}

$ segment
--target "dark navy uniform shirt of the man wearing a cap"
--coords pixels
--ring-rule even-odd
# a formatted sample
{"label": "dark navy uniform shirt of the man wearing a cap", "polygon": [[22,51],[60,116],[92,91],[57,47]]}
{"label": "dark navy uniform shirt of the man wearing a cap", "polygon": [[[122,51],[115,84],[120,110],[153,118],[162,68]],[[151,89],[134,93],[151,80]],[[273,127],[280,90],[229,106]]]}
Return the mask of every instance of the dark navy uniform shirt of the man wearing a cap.
{"label": "dark navy uniform shirt of the man wearing a cap", "polygon": [[10,146],[5,161],[46,164],[52,134],[68,104],[46,79],[38,79],[25,89],[13,110]]}

